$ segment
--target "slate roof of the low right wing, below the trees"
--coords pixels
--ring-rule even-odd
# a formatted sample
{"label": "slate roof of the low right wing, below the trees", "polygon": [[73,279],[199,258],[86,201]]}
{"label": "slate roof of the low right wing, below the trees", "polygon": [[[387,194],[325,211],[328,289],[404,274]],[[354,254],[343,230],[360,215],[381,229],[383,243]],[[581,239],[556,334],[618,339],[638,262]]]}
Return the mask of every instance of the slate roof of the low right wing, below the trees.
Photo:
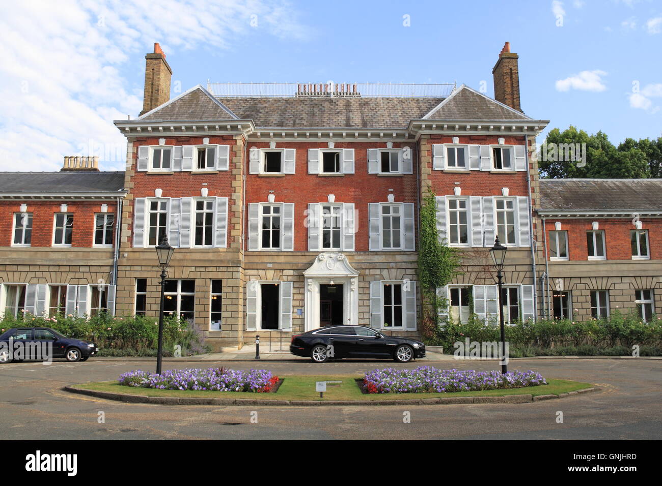
{"label": "slate roof of the low right wing, below the trees", "polygon": [[662,212],[662,179],[540,179],[540,212]]}

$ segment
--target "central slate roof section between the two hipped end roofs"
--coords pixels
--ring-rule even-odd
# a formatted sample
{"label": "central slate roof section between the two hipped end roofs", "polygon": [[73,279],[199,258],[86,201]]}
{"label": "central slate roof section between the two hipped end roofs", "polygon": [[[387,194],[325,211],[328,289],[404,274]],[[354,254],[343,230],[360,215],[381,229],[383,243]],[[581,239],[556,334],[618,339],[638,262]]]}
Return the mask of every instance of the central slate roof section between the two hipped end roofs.
{"label": "central slate roof section between the two hipped end roofs", "polygon": [[261,128],[406,128],[442,98],[221,97],[220,101]]}

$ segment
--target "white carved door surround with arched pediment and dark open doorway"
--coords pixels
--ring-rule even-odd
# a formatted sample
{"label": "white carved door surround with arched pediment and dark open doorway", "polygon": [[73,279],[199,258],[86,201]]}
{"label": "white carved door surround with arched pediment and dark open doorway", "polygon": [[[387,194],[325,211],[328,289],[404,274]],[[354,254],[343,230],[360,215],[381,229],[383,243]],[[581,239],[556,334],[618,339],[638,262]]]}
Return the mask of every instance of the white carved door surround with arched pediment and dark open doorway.
{"label": "white carved door surround with arched pediment and dark open doorway", "polygon": [[358,270],[342,253],[317,256],[305,277],[305,331],[322,325],[358,324]]}

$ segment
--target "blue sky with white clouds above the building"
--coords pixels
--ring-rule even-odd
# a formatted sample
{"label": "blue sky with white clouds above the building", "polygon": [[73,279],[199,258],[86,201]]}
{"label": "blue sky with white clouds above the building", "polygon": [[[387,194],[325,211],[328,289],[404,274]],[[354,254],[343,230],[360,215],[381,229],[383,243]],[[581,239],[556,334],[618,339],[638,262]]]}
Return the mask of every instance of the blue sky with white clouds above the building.
{"label": "blue sky with white clouds above the building", "polygon": [[142,108],[154,42],[173,96],[207,79],[485,82],[493,96],[491,69],[510,41],[529,116],[614,143],[662,134],[659,0],[17,4],[0,19],[0,170],[57,170],[76,153],[121,170],[112,120]]}

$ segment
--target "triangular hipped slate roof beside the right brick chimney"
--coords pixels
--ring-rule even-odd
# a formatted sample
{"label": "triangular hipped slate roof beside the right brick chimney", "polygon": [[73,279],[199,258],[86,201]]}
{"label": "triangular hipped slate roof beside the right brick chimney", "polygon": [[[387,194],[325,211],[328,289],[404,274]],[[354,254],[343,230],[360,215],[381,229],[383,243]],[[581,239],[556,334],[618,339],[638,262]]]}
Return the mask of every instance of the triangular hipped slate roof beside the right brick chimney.
{"label": "triangular hipped slate roof beside the right brick chimney", "polygon": [[524,113],[465,85],[459,87],[424,118],[427,120],[531,120]]}

